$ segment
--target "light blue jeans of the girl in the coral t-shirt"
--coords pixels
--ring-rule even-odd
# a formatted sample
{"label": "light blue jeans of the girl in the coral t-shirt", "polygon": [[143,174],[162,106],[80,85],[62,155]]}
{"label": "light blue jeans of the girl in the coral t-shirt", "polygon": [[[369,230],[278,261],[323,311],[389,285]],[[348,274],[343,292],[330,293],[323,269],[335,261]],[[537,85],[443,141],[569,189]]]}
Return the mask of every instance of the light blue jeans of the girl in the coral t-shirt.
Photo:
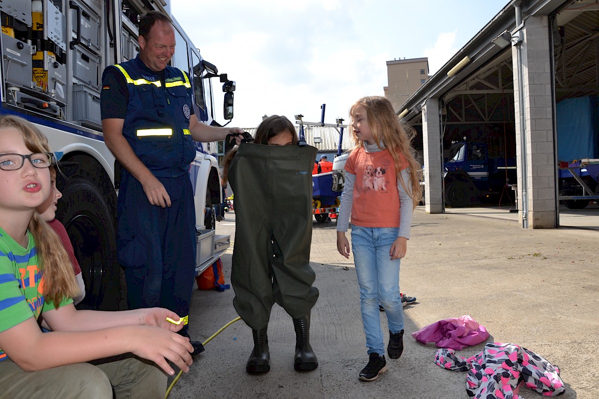
{"label": "light blue jeans of the girl in the coral t-shirt", "polygon": [[391,260],[389,251],[398,228],[360,227],[352,224],[353,261],[360,286],[360,310],[368,354],[385,354],[380,327],[379,302],[385,307],[389,330],[404,329],[400,299],[400,260]]}

